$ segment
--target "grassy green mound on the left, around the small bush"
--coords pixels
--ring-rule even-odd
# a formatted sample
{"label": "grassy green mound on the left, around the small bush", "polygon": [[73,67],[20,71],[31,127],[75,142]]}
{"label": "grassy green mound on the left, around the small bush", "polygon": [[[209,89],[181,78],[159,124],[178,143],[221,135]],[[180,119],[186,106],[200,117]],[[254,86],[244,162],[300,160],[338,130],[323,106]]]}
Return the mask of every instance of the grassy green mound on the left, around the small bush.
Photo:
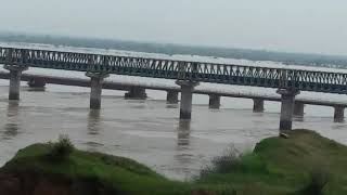
{"label": "grassy green mound on the left, around the small bush", "polygon": [[[64,160],[52,161],[48,144],[21,150],[1,172],[54,176],[70,181],[92,180],[117,194],[187,194],[187,184],[169,181],[150,168],[128,158],[74,150]],[[174,187],[172,191],[168,188]],[[176,188],[178,191],[176,191]]]}

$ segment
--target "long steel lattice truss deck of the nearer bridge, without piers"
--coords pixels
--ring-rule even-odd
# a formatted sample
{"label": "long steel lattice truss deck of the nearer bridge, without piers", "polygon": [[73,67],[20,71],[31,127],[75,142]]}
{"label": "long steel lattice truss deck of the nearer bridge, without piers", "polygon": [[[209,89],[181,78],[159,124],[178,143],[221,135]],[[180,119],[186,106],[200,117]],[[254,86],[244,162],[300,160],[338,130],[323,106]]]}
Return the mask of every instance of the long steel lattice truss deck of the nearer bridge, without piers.
{"label": "long steel lattice truss deck of the nearer bridge, without piers", "polygon": [[347,74],[0,48],[0,64],[347,94]]}

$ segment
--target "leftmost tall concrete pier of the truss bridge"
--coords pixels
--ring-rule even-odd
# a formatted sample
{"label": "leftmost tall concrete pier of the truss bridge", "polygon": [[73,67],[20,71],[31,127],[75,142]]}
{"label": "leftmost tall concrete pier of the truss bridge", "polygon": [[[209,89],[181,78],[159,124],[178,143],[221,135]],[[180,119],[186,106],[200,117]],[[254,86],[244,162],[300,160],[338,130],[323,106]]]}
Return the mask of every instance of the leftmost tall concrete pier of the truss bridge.
{"label": "leftmost tall concrete pier of the truss bridge", "polygon": [[20,100],[22,72],[28,69],[28,67],[14,66],[14,65],[4,65],[3,67],[10,70],[9,100]]}

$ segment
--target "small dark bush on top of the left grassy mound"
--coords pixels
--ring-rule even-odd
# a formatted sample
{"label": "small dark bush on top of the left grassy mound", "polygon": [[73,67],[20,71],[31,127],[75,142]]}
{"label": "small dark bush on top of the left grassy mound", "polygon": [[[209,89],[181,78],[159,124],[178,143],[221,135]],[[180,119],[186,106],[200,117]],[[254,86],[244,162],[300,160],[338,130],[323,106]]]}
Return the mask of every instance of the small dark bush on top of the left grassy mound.
{"label": "small dark bush on top of the left grassy mound", "polygon": [[66,134],[61,134],[57,142],[49,144],[49,156],[54,160],[66,159],[75,148],[74,144]]}

